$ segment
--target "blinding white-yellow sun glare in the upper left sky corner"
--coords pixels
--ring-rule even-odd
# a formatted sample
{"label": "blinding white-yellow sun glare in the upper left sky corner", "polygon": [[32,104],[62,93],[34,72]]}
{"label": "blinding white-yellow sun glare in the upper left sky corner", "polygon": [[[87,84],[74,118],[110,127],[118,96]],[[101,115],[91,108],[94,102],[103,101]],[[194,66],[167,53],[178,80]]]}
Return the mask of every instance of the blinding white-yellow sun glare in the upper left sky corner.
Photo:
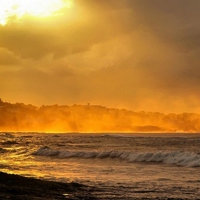
{"label": "blinding white-yellow sun glare in the upper left sky corner", "polygon": [[25,15],[48,17],[58,14],[63,8],[72,7],[73,0],[1,0],[0,4],[0,24],[6,25],[10,19],[18,20]]}

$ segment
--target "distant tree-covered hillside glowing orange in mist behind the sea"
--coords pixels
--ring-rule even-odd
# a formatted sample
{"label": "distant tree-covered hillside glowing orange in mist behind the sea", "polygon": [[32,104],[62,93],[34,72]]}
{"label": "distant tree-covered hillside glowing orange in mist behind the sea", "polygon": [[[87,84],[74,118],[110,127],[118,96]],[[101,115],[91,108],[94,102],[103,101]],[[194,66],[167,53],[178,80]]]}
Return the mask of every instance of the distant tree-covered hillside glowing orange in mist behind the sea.
{"label": "distant tree-covered hillside glowing orange in mist behind the sea", "polygon": [[200,115],[134,112],[99,105],[36,107],[0,99],[0,131],[200,132]]}

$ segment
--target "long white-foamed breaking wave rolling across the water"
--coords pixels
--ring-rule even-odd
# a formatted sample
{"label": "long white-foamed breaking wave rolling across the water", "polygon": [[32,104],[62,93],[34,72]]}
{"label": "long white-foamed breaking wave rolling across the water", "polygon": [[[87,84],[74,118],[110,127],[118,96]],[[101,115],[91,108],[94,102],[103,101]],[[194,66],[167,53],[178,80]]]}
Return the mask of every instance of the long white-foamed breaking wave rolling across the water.
{"label": "long white-foamed breaking wave rolling across the water", "polygon": [[50,147],[42,147],[33,155],[50,156],[56,158],[118,158],[127,162],[155,162],[173,164],[177,166],[200,167],[200,155],[193,152],[154,152],[134,153],[123,151],[67,151],[55,150]]}

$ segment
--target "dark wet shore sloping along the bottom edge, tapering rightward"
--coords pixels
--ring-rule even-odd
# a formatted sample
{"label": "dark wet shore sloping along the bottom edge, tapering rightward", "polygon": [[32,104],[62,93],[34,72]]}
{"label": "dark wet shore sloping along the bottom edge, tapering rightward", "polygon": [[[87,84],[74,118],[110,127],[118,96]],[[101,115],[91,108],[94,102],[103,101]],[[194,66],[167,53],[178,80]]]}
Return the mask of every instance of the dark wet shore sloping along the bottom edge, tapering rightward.
{"label": "dark wet shore sloping along the bottom edge, tapering rightward", "polygon": [[[112,194],[110,191],[78,183],[25,178],[0,172],[0,200],[189,200],[152,196],[151,191],[135,191],[135,197]],[[192,198],[193,199],[193,198]]]}

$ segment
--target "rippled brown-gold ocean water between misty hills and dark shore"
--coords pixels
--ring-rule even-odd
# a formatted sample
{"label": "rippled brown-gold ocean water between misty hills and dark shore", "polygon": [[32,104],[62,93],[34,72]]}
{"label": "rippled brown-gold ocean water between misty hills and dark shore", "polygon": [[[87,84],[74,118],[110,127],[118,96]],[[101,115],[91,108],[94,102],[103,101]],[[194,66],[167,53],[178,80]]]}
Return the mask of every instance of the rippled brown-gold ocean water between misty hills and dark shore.
{"label": "rippled brown-gold ocean water between misty hills and dark shore", "polygon": [[2,132],[0,171],[85,184],[104,200],[200,199],[200,134]]}

